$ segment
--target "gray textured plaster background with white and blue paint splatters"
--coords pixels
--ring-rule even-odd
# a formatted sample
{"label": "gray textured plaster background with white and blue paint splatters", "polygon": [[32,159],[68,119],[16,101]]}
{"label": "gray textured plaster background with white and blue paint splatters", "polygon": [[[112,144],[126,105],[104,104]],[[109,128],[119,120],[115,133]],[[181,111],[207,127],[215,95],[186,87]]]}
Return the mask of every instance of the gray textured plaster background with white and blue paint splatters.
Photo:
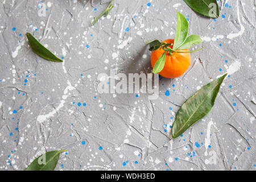
{"label": "gray textured plaster background with white and blue paint splatters", "polygon": [[[92,27],[107,0],[1,0],[0,169],[23,170],[46,151],[66,149],[56,170],[255,170],[255,1],[218,3],[214,20],[180,0],[115,0]],[[97,75],[110,68],[152,71],[144,41],[174,38],[176,11],[188,18],[189,34],[204,39],[189,70],[160,79],[158,100],[98,94]],[[36,56],[26,32],[64,63]],[[172,139],[180,105],[226,72],[209,115]]]}

